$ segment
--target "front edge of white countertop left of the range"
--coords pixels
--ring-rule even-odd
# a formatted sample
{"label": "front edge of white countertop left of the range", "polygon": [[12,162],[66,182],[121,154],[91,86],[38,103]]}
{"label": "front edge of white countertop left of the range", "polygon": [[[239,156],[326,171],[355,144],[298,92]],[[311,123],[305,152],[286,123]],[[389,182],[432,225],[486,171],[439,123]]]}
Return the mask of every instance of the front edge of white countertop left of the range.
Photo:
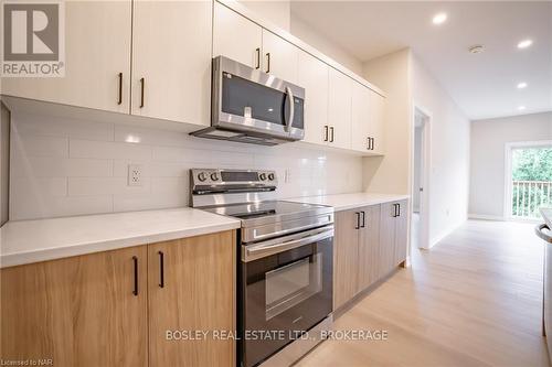
{"label": "front edge of white countertop left of the range", "polygon": [[78,245],[67,245],[65,247],[36,249],[25,252],[0,255],[0,269],[17,267],[43,261],[60,260],[64,258],[92,255],[103,251],[118,250],[129,247],[144,246],[148,244],[168,241],[179,238],[210,235],[219,231],[237,229],[241,223],[225,223],[217,225],[208,225],[203,227],[193,227],[181,230],[141,235],[135,237],[116,238],[97,242],[84,242]]}

